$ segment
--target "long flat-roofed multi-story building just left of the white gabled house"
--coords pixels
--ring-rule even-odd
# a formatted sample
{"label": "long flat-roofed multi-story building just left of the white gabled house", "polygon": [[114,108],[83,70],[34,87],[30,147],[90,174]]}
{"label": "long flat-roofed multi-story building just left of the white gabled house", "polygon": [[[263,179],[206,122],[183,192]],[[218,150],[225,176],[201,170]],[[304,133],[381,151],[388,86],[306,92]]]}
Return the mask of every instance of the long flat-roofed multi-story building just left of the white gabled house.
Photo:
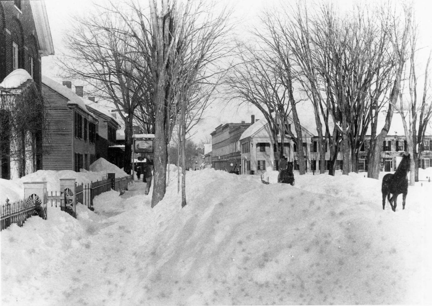
{"label": "long flat-roofed multi-story building just left of the white gabled house", "polygon": [[[251,121],[255,121],[254,115]],[[212,168],[228,172],[241,170],[240,136],[253,122],[221,124],[210,134]]]}

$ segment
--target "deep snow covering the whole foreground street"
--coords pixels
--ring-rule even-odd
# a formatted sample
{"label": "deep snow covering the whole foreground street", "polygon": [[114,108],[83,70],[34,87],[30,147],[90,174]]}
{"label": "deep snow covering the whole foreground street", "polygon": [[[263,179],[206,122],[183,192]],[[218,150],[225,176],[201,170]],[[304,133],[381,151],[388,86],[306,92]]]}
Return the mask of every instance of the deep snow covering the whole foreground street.
{"label": "deep snow covering the whole foreground street", "polygon": [[183,209],[174,171],[153,209],[137,181],[77,219],[49,207],[1,232],[2,303],[430,303],[432,183],[393,212],[362,174],[264,176],[187,172]]}

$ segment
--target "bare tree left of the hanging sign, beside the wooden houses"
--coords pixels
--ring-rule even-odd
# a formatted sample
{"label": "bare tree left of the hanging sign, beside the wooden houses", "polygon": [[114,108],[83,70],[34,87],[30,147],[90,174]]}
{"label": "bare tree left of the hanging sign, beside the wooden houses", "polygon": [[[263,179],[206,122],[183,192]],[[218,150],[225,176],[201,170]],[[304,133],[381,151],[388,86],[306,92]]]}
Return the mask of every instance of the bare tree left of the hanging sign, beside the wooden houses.
{"label": "bare tree left of the hanging sign, beside the wooden houses", "polygon": [[[148,105],[152,87],[149,68],[137,69],[137,63],[145,61],[131,43],[133,35],[123,22],[124,9],[109,3],[85,18],[76,17],[66,35],[69,53],[60,60],[60,66],[65,77],[86,81],[93,95],[113,102],[124,121],[124,171],[130,173],[134,113],[140,105]],[[147,110],[148,116],[143,118],[151,118],[152,109]],[[151,127],[151,120],[143,118]]]}

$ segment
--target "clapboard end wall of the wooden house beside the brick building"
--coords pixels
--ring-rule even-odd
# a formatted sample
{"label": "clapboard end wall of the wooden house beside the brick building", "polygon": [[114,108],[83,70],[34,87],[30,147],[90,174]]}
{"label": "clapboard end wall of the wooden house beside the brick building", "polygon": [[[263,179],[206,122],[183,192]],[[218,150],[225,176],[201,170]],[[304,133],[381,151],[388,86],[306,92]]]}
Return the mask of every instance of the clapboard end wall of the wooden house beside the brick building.
{"label": "clapboard end wall of the wooden house beside the brick building", "polygon": [[[44,170],[73,170],[73,111],[64,96],[42,85],[48,119],[47,140],[44,141]],[[71,154],[72,152],[72,154]],[[71,158],[72,156],[72,158]]]}

